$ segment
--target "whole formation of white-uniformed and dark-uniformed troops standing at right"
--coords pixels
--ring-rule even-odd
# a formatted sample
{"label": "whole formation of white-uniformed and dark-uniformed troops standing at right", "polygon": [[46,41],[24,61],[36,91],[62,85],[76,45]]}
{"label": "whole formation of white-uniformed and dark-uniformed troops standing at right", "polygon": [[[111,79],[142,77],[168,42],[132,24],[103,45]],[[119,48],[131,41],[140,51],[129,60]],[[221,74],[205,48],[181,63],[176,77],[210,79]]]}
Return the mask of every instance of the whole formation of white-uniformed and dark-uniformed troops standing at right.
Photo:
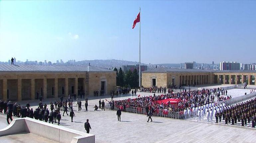
{"label": "whole formation of white-uniformed and dark-uniformed troops standing at right", "polygon": [[241,125],[247,125],[247,122],[252,122],[252,127],[255,127],[256,122],[256,98],[246,102],[238,103],[236,105],[220,105],[206,104],[199,107],[184,108],[185,119],[188,117],[196,116],[200,121],[204,118],[207,122],[212,121],[215,117],[216,123],[221,122],[221,119],[225,121],[225,124],[231,123],[234,125],[237,122],[241,122]]}

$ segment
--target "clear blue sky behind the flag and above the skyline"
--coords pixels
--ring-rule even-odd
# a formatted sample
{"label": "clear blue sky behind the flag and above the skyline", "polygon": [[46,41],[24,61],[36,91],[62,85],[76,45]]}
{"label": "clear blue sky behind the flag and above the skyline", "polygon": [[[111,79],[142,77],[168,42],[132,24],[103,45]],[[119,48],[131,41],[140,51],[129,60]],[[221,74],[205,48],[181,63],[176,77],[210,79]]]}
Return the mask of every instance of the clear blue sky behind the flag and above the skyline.
{"label": "clear blue sky behind the flag and above the skyline", "polygon": [[0,61],[256,62],[256,1],[0,1]]}

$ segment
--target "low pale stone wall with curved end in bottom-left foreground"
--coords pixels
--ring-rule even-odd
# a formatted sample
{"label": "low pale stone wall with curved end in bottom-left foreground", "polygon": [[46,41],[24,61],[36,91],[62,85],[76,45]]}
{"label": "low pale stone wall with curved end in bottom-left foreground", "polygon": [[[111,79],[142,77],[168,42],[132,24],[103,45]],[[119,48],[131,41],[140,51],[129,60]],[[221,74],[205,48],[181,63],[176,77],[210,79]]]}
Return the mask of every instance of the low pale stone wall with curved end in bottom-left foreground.
{"label": "low pale stone wall with curved end in bottom-left foreground", "polygon": [[92,134],[31,118],[13,119],[9,126],[0,130],[0,136],[24,131],[59,143],[95,143],[95,136]]}

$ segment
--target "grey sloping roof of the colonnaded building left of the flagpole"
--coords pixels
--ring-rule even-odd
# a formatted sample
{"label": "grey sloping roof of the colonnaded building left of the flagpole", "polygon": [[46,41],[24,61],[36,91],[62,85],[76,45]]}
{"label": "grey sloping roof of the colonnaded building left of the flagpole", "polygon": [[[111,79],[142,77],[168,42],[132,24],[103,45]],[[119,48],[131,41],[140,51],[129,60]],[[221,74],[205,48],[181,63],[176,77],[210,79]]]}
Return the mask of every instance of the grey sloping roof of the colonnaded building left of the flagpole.
{"label": "grey sloping roof of the colonnaded building left of the flagpole", "polygon": [[0,65],[0,72],[115,72],[94,66]]}

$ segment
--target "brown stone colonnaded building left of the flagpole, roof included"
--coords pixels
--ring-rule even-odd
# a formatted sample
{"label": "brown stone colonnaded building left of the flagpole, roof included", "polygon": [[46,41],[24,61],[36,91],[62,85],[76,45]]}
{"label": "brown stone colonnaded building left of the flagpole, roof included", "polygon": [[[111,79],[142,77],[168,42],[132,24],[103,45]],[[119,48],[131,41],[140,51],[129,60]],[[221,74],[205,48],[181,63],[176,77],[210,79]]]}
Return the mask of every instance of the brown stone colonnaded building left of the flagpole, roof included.
{"label": "brown stone colonnaded building left of the flagpole, roof included", "polygon": [[34,100],[93,96],[94,91],[109,95],[116,90],[116,72],[93,66],[0,65],[0,99]]}

